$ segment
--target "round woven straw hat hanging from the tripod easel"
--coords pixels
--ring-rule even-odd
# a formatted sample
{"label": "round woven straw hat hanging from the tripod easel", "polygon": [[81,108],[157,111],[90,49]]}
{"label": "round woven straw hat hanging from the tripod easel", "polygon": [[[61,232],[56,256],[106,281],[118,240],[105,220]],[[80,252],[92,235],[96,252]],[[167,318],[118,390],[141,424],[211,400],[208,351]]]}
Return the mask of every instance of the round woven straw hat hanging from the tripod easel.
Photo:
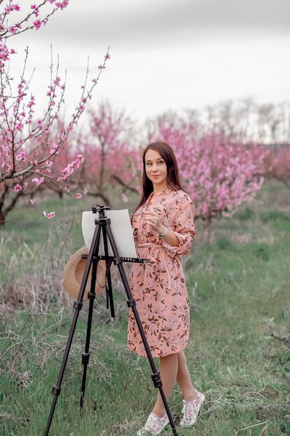
{"label": "round woven straw hat hanging from the tripod easel", "polygon": [[[70,260],[65,265],[65,271],[63,273],[63,286],[67,294],[71,297],[77,298],[79,296],[79,290],[81,288],[81,281],[83,279],[83,273],[86,268],[86,258],[81,258],[82,254],[89,254],[87,247],[82,247],[76,253],[72,255]],[[88,293],[90,292],[90,282],[92,280],[92,265],[88,274],[88,281],[86,283],[86,289],[83,294],[83,300],[88,299]],[[106,285],[106,262],[99,260],[97,264],[97,279],[95,283],[95,294],[102,293]]]}

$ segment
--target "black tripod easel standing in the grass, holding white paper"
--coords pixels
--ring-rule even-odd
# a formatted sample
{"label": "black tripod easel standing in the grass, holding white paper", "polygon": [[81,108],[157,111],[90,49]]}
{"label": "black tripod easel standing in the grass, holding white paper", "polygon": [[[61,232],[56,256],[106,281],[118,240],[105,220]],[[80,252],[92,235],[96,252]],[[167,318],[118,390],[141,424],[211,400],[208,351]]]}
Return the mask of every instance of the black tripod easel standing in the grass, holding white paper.
{"label": "black tripod easel standing in the grass, holding white paper", "polygon": [[[67,338],[67,345],[65,347],[65,354],[63,355],[63,361],[61,364],[61,370],[58,374],[58,380],[56,383],[56,386],[52,389],[52,394],[54,394],[54,398],[51,404],[51,410],[49,413],[49,419],[47,421],[47,427],[45,429],[45,436],[49,435],[49,430],[51,426],[51,421],[54,416],[54,410],[56,408],[56,401],[58,399],[59,394],[61,394],[61,382],[63,381],[63,375],[65,372],[65,366],[67,364],[67,359],[70,353],[70,347],[72,345],[72,339],[74,336],[74,330],[76,328],[76,322],[79,318],[79,311],[82,309],[83,306],[83,295],[85,293],[86,289],[86,283],[88,281],[88,275],[90,273],[90,267],[92,267],[92,278],[91,278],[91,285],[90,285],[90,292],[88,293],[88,299],[90,300],[89,305],[89,311],[88,311],[88,325],[87,325],[87,333],[86,333],[86,346],[85,346],[85,352],[82,355],[82,364],[83,364],[83,380],[81,385],[81,407],[83,407],[83,398],[85,394],[86,389],[86,373],[88,368],[88,362],[90,357],[90,332],[91,332],[91,325],[92,325],[92,311],[93,311],[93,304],[95,299],[95,283],[97,279],[97,263],[99,260],[106,260],[106,292],[107,292],[107,306],[108,303],[110,303],[111,307],[111,316],[114,316],[114,309],[113,309],[113,293],[112,293],[112,287],[111,287],[111,273],[110,268],[112,263],[117,265],[118,270],[120,272],[120,277],[122,279],[122,283],[124,285],[124,289],[127,294],[127,304],[129,307],[131,307],[134,317],[136,319],[136,323],[138,325],[138,329],[140,332],[140,336],[142,338],[143,344],[145,346],[145,350],[147,353],[147,357],[150,361],[150,366],[152,368],[152,380],[154,382],[154,387],[159,389],[161,398],[163,400],[164,407],[166,409],[166,413],[168,414],[168,419],[170,426],[172,428],[172,433],[175,436],[177,435],[177,430],[175,428],[175,423],[173,422],[172,415],[170,413],[168,403],[166,400],[166,396],[163,392],[162,388],[162,382],[160,373],[156,370],[156,366],[154,364],[154,360],[152,358],[152,354],[150,352],[149,345],[147,343],[147,339],[143,330],[142,323],[140,322],[140,318],[138,315],[138,311],[136,309],[136,301],[134,300],[131,289],[129,287],[129,283],[127,281],[126,274],[124,272],[124,267],[122,265],[123,261],[126,262],[136,262],[136,263],[145,263],[147,262],[147,259],[139,259],[139,258],[121,258],[118,253],[118,247],[115,244],[115,240],[113,238],[113,233],[111,231],[111,220],[105,216],[105,210],[108,210],[109,208],[105,208],[104,206],[97,205],[96,208],[92,208],[93,213],[99,213],[99,219],[95,219],[95,232],[92,237],[92,243],[90,245],[90,251],[88,256],[86,256],[86,267],[85,271],[83,272],[83,279],[81,281],[81,287],[79,290],[79,296],[77,300],[74,302],[74,318],[72,320],[72,326],[70,328],[70,333]],[[101,241],[101,235],[103,237],[104,241],[104,256],[99,255],[99,243]],[[111,245],[111,249],[113,251],[113,257],[108,255],[108,243]]]}

